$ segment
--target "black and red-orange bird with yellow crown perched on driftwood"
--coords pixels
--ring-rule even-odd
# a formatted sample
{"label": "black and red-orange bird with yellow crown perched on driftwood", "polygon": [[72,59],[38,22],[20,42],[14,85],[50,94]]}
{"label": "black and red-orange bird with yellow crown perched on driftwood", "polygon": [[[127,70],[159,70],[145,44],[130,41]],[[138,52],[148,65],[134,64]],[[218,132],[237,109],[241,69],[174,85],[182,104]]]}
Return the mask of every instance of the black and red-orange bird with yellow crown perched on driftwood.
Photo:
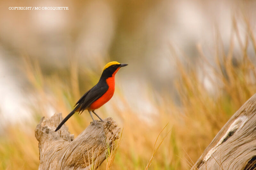
{"label": "black and red-orange bird with yellow crown perched on driftwood", "polygon": [[[63,119],[62,122],[60,122],[55,132],[58,131],[72,115],[76,112],[78,112],[78,114],[82,113],[84,110],[88,110],[91,117],[92,113],[94,113],[100,121],[103,121],[94,110],[100,108],[112,98],[115,92],[115,75],[121,67],[127,65],[128,64],[120,64],[116,61],[107,63],[103,68],[99,82],[84,93],[84,95],[76,102],[76,105],[74,106],[75,108]],[[96,123],[93,117],[92,120]]]}

